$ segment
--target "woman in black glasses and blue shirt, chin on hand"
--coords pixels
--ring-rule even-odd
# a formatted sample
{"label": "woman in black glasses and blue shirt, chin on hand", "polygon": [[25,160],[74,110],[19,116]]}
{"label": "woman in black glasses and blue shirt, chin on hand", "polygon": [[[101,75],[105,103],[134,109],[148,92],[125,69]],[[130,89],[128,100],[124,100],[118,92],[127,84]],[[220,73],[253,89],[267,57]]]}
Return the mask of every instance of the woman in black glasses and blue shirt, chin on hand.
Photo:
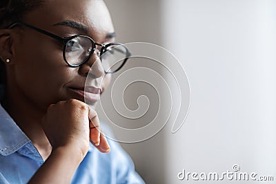
{"label": "woman in black glasses and blue shirt, chin on hand", "polygon": [[99,60],[119,45],[105,3],[0,6],[0,183],[144,183],[119,144],[99,132],[93,110],[126,62],[110,72]]}

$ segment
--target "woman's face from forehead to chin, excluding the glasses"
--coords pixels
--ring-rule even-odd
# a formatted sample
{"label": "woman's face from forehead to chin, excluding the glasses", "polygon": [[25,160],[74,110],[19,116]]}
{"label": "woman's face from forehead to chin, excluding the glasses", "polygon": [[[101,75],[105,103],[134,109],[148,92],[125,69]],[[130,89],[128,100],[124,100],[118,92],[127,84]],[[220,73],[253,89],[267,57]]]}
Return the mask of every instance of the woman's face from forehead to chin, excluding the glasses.
{"label": "woman's face from forehead to chin, excluding the glasses", "polygon": [[[43,6],[26,14],[23,22],[60,37],[83,34],[96,43],[115,41],[110,14],[101,0],[45,1]],[[90,86],[90,92],[86,93],[89,101],[86,102],[95,106],[100,94],[99,89],[92,87],[100,86],[103,92],[110,83],[110,74],[105,75],[97,54],[92,54],[86,64],[70,68],[63,60],[63,45],[59,41],[30,28],[20,28],[13,40],[12,69],[8,70],[14,90],[46,109],[62,100],[84,101],[83,88],[89,77],[90,82],[86,84]]]}

